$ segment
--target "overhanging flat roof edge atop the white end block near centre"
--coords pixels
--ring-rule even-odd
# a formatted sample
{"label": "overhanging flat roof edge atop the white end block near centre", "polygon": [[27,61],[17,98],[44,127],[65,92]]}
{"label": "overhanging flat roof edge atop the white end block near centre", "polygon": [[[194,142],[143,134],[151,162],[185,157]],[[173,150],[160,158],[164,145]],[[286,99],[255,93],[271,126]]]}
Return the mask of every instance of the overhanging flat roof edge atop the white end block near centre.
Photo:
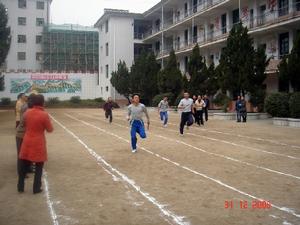
{"label": "overhanging flat roof edge atop the white end block near centre", "polygon": [[98,27],[101,23],[103,23],[110,17],[131,17],[134,19],[144,19],[143,14],[141,13],[130,13],[129,10],[120,9],[104,9],[104,14],[95,23],[94,27]]}

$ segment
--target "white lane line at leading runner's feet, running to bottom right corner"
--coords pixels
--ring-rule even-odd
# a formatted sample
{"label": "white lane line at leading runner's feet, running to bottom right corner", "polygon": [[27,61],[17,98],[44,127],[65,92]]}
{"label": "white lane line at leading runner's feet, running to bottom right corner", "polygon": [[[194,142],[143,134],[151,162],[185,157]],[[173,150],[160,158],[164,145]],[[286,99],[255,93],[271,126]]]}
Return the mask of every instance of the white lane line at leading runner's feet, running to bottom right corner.
{"label": "white lane line at leading runner's feet, running to bottom right corner", "polygon": [[[125,142],[127,142],[127,143],[130,143],[129,140],[126,140],[125,138],[120,137],[120,136],[118,136],[118,135],[116,135],[116,134],[114,134],[114,133],[111,133],[111,132],[109,132],[109,131],[107,131],[107,130],[105,130],[105,129],[102,129],[102,128],[100,128],[100,127],[97,127],[97,126],[95,126],[95,125],[93,125],[93,124],[90,124],[90,123],[88,123],[88,122],[85,122],[85,121],[83,121],[83,120],[77,119],[77,118],[75,118],[75,117],[73,117],[73,116],[71,116],[71,115],[69,115],[69,114],[67,114],[67,113],[65,113],[65,115],[66,115],[67,117],[69,117],[69,118],[75,120],[75,121],[78,121],[78,122],[81,122],[81,123],[85,124],[86,126],[93,127],[93,128],[95,128],[95,129],[101,131],[102,133],[108,134],[108,135],[110,135],[110,136],[114,136],[114,137],[116,137],[116,138],[118,138],[118,139],[120,139],[120,140],[122,140],[122,141],[125,141]],[[217,184],[219,184],[219,185],[221,185],[221,186],[223,186],[223,187],[226,187],[226,188],[228,188],[228,189],[230,189],[230,190],[232,190],[232,191],[234,191],[234,192],[237,192],[237,193],[239,193],[239,194],[241,194],[241,195],[244,195],[244,196],[246,196],[246,197],[249,197],[249,198],[252,198],[252,199],[255,199],[255,200],[259,200],[259,201],[266,201],[266,200],[264,200],[263,198],[259,198],[259,197],[256,197],[256,196],[254,196],[254,195],[248,194],[248,193],[246,193],[246,192],[244,192],[244,191],[241,191],[241,190],[239,190],[239,189],[237,189],[237,188],[235,188],[235,187],[232,187],[232,186],[230,186],[230,185],[228,185],[228,184],[226,184],[226,183],[224,183],[224,182],[222,182],[222,181],[220,181],[220,180],[218,180],[218,179],[212,178],[212,177],[210,177],[210,176],[208,176],[208,175],[206,175],[206,174],[200,173],[200,172],[195,171],[195,170],[193,170],[193,169],[190,169],[190,168],[188,168],[188,167],[186,167],[186,166],[182,166],[182,165],[180,165],[179,163],[174,162],[174,161],[172,161],[172,160],[170,160],[170,159],[165,160],[166,157],[163,157],[163,156],[161,156],[161,155],[159,155],[159,154],[157,154],[157,153],[154,153],[154,152],[152,152],[152,151],[150,151],[150,150],[148,150],[148,149],[146,149],[146,148],[144,148],[144,147],[140,147],[140,149],[142,149],[142,150],[144,150],[145,152],[150,153],[151,155],[154,155],[154,156],[156,156],[156,157],[158,157],[158,158],[160,158],[160,159],[162,159],[162,160],[164,160],[164,161],[167,161],[167,162],[169,162],[169,163],[172,163],[173,165],[178,166],[178,167],[181,168],[181,169],[187,170],[187,171],[189,171],[189,172],[191,172],[191,173],[193,173],[193,174],[196,174],[196,175],[198,175],[198,176],[204,177],[204,178],[206,178],[206,179],[208,179],[208,180],[210,180],[210,181],[212,181],[212,182],[214,182],[214,183],[217,183]],[[164,159],[164,158],[165,158],[165,159]],[[273,204],[273,203],[271,203],[271,206],[272,206],[273,208],[275,208],[275,209],[278,209],[278,210],[282,211],[282,212],[285,212],[285,213],[288,213],[288,214],[290,214],[290,215],[293,215],[293,216],[295,216],[295,217],[297,217],[297,218],[300,218],[300,214],[297,214],[297,213],[295,212],[294,209],[290,209],[290,208],[288,208],[288,207],[278,206],[278,205],[275,205],[275,204]]]}

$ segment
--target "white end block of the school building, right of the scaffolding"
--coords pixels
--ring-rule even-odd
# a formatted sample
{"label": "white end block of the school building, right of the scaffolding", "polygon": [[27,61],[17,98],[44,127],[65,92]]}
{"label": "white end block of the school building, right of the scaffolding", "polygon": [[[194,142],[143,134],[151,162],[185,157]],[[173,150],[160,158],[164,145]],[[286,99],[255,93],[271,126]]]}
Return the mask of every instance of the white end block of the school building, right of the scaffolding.
{"label": "white end block of the school building, right of the scaffolding", "polygon": [[111,86],[111,73],[120,60],[130,67],[142,49],[151,48],[142,41],[149,26],[142,14],[114,9],[105,9],[95,24],[99,29],[99,83],[103,98],[121,98]]}

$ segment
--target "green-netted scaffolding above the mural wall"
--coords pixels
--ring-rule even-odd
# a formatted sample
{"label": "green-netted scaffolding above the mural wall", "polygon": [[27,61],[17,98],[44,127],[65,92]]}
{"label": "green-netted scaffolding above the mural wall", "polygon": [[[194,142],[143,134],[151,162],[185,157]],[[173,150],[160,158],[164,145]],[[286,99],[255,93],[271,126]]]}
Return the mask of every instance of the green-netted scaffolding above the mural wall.
{"label": "green-netted scaffolding above the mural wall", "polygon": [[99,65],[99,34],[80,25],[49,25],[43,32],[44,71],[94,73]]}

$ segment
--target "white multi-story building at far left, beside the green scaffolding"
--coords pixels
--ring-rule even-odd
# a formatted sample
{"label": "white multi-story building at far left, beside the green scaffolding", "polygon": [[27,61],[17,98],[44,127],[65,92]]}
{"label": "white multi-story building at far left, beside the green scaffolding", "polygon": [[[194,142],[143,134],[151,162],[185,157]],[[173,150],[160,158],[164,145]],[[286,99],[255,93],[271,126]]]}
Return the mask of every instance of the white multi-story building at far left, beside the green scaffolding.
{"label": "white multi-story building at far left, beside the green scaffolding", "polygon": [[7,71],[40,71],[42,33],[50,20],[52,0],[0,0],[7,8],[11,45]]}

